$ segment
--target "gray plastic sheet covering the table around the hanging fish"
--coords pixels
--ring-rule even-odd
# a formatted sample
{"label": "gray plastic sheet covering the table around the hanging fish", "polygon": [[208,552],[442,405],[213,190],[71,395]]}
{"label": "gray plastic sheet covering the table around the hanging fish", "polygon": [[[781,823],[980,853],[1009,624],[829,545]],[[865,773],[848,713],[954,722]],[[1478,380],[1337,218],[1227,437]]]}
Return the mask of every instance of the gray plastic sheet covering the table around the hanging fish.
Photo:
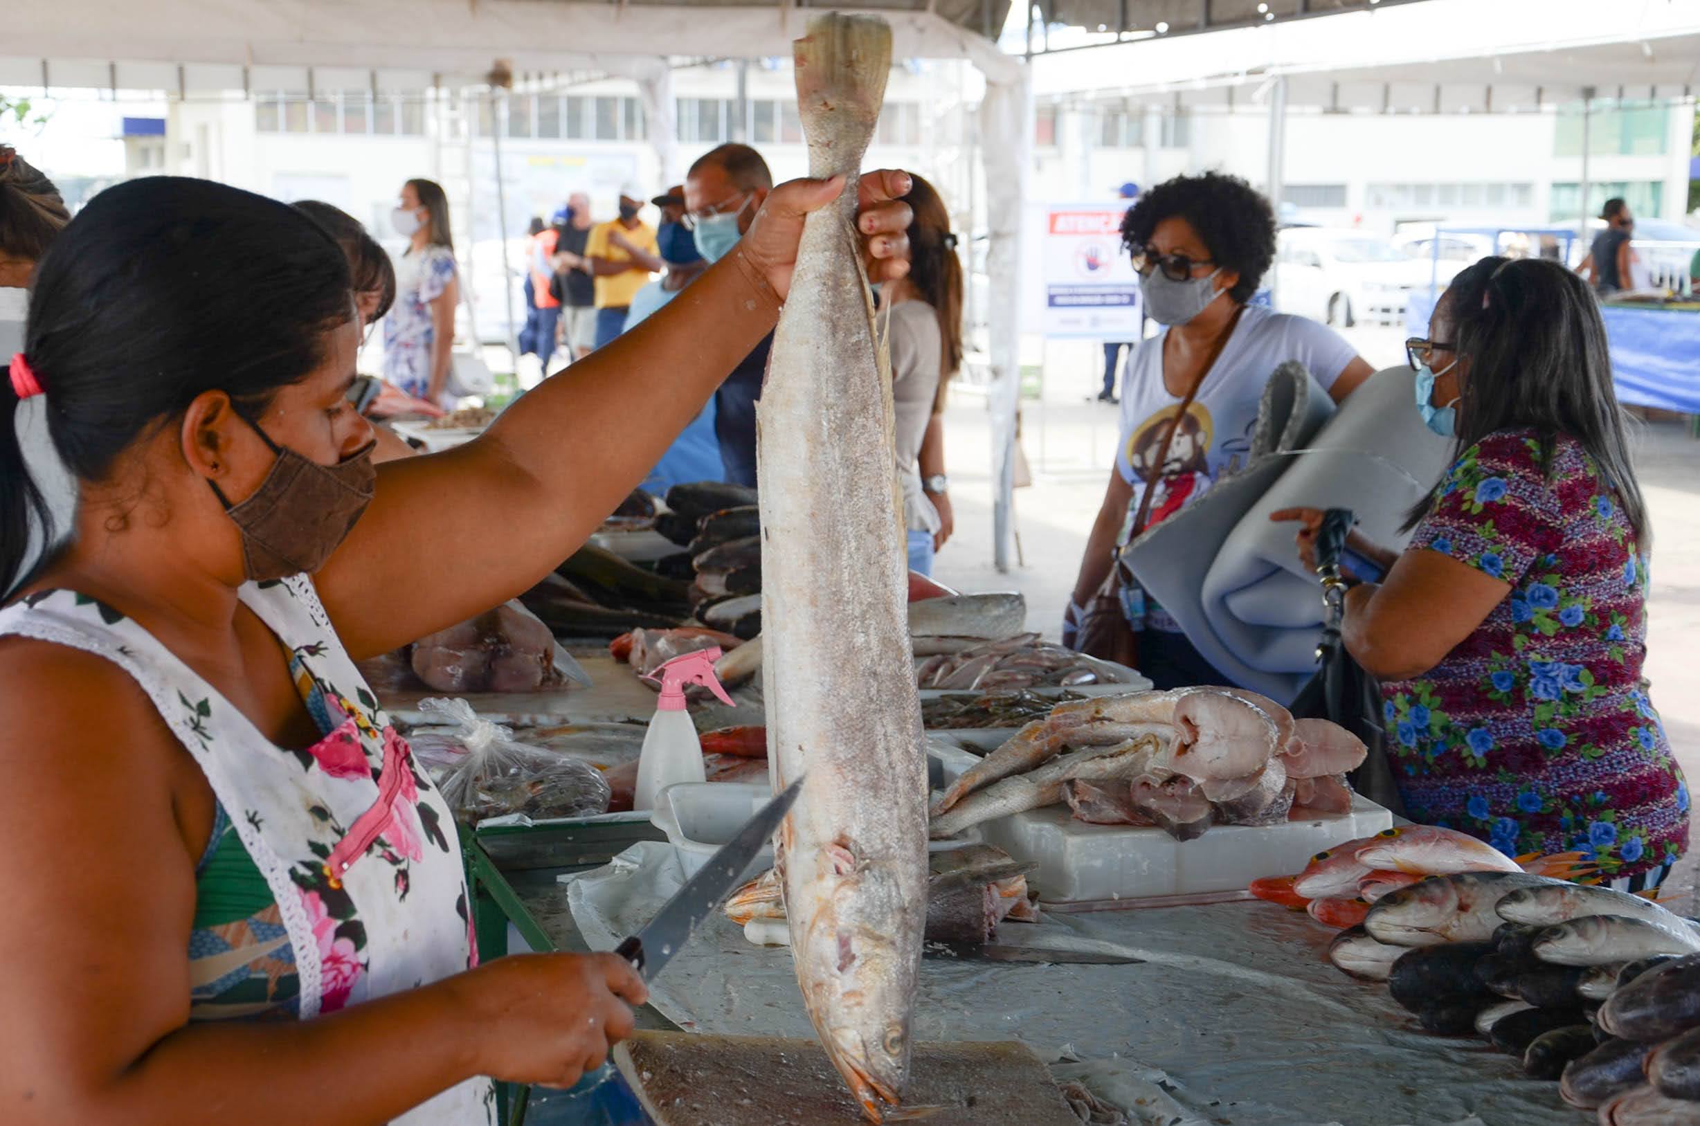
{"label": "gray plastic sheet covering the table around the hanging fish", "polygon": [[[639,842],[570,879],[592,949],[636,934],[683,883],[670,845]],[[1557,1083],[1474,1039],[1413,1031],[1384,987],[1324,958],[1329,930],[1270,903],[1049,915],[998,941],[1110,951],[1141,964],[926,958],[916,1041],[1020,1039],[1141,1126],[1576,1126]],[[695,1032],[814,1039],[785,947],[716,913],[649,985]]]}

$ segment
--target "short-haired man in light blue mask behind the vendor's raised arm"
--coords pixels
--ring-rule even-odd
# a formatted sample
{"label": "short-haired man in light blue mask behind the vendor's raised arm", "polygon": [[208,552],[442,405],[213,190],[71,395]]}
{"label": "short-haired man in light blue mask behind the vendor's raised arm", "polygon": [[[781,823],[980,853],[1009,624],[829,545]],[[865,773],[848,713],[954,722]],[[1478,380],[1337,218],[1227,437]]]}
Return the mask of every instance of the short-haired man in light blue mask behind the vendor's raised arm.
{"label": "short-haired man in light blue mask behind the vendor's raised arm", "polygon": [[[685,225],[697,250],[717,262],[750,230],[762,201],[774,189],[767,162],[748,145],[721,145],[690,165],[685,177]],[[768,333],[714,393],[714,434],[726,480],[755,486],[755,403],[774,345]]]}

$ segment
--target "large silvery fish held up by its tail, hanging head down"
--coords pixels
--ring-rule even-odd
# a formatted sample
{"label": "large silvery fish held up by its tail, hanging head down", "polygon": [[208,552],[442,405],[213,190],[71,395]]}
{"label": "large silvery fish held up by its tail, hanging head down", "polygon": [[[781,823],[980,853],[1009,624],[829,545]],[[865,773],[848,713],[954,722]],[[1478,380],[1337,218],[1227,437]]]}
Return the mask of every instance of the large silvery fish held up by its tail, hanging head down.
{"label": "large silvery fish held up by its tail, hanging head down", "polygon": [[794,54],[809,173],[843,175],[845,192],[804,221],[758,412],[768,762],[780,789],[808,776],[777,869],[809,1019],[882,1121],[910,1078],[926,922],[926,745],[891,383],[855,233],[891,27],[821,15]]}

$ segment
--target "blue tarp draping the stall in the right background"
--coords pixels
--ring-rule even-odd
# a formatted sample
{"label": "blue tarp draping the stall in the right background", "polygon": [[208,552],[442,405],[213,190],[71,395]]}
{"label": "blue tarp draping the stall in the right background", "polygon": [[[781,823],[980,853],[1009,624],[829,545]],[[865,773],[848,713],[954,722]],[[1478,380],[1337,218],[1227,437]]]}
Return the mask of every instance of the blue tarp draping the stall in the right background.
{"label": "blue tarp draping the stall in the right background", "polygon": [[[1433,311],[1435,294],[1413,291],[1404,308],[1406,332],[1426,337]],[[1618,401],[1700,415],[1700,311],[1606,304],[1600,315],[1612,344]]]}

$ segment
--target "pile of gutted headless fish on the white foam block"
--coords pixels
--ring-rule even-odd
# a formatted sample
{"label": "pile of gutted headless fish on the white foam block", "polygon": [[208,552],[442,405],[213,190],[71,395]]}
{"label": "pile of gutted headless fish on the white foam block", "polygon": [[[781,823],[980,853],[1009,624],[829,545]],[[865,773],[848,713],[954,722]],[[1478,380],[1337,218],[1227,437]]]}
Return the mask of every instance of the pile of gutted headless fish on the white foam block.
{"label": "pile of gutted headless fish on the white foam block", "polygon": [[1068,801],[1096,825],[1277,825],[1352,808],[1343,772],[1363,743],[1326,719],[1224,687],[1057,704],[964,771],[933,803],[932,835]]}

